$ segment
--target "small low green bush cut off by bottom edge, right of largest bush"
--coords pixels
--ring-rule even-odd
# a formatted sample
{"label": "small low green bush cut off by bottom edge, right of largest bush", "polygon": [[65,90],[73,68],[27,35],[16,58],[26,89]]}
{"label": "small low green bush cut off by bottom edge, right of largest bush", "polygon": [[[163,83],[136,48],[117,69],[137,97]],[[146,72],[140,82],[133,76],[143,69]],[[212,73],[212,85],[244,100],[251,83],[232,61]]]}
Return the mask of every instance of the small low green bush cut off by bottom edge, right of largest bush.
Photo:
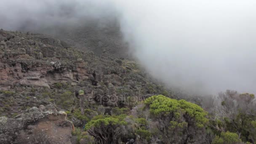
{"label": "small low green bush cut off by bottom edge, right of largest bush", "polygon": [[216,136],[213,139],[212,144],[235,144],[239,142],[241,142],[241,139],[239,139],[239,136],[236,133],[227,131],[221,132],[220,136]]}

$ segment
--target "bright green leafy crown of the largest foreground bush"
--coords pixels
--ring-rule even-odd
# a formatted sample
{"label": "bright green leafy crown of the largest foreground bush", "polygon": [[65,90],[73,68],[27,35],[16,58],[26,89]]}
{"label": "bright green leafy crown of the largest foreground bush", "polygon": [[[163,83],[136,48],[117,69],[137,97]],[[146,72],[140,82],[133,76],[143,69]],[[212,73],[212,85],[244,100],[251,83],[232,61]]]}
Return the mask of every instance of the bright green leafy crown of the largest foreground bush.
{"label": "bright green leafy crown of the largest foreground bush", "polygon": [[178,101],[159,95],[149,97],[144,103],[149,105],[150,112],[155,116],[167,117],[168,115],[173,115],[176,119],[179,119],[183,115],[189,115],[189,117],[195,119],[195,124],[199,128],[203,128],[208,122],[206,118],[207,112],[203,108],[183,99]]}

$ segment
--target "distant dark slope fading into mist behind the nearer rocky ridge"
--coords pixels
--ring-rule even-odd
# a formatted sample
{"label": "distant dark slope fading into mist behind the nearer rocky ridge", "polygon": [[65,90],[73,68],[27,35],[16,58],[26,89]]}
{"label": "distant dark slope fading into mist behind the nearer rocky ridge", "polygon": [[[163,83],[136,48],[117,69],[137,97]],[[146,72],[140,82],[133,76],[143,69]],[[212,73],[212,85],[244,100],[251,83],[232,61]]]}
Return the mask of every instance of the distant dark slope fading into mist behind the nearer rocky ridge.
{"label": "distant dark slope fading into mist behind the nearer rocky ridge", "polygon": [[128,44],[123,40],[119,22],[113,16],[104,19],[85,17],[77,20],[74,24],[63,23],[45,27],[35,27],[33,22],[26,23],[19,28],[27,32],[37,32],[53,35],[67,42],[70,46],[82,51],[93,51],[96,56],[112,58],[130,58]]}

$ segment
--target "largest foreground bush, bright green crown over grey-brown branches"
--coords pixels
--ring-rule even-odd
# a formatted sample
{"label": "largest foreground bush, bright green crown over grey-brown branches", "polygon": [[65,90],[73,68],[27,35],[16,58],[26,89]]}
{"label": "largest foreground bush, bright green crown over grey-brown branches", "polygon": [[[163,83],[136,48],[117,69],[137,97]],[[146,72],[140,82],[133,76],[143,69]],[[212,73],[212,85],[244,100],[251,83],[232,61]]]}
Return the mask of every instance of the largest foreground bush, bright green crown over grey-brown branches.
{"label": "largest foreground bush, bright green crown over grey-brown branches", "polygon": [[207,112],[197,104],[163,95],[151,96],[144,103],[149,107],[150,116],[156,123],[156,134],[163,143],[187,143],[204,136]]}

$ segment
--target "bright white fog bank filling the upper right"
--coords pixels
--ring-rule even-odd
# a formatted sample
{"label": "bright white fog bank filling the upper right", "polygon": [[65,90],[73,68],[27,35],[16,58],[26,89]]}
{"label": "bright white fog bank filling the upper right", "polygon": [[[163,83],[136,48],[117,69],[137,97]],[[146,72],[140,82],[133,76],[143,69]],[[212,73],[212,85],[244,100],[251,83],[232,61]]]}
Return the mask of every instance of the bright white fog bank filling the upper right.
{"label": "bright white fog bank filling the upper right", "polygon": [[124,34],[155,77],[188,91],[256,92],[255,0],[117,3]]}

